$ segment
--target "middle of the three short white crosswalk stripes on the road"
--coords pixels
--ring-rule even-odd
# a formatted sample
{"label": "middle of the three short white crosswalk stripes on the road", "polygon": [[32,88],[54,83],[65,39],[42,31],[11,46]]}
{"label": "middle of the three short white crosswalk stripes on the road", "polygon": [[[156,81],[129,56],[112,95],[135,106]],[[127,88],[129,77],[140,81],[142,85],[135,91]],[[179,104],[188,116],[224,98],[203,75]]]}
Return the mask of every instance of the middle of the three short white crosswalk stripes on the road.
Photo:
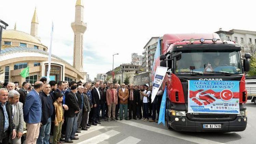
{"label": "middle of the three short white crosswalk stripes on the road", "polygon": [[97,144],[99,142],[102,142],[104,140],[107,140],[109,138],[111,138],[112,136],[115,136],[117,134],[119,134],[120,132],[118,131],[115,131],[115,130],[110,130],[110,131],[107,131],[105,133],[102,133],[102,134],[99,134],[97,136],[94,136],[90,139],[87,139],[85,141],[82,141],[78,144]]}

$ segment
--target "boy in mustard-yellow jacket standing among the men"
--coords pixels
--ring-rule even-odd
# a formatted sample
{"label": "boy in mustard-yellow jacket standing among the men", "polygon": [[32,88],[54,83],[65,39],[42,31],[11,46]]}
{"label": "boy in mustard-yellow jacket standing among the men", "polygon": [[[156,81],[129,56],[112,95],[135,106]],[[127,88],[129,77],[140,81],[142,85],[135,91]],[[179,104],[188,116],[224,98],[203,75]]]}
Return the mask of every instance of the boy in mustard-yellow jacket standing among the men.
{"label": "boy in mustard-yellow jacket standing among the men", "polygon": [[54,134],[53,134],[53,143],[54,144],[60,144],[60,136],[61,136],[61,127],[63,124],[63,109],[62,109],[62,100],[63,100],[63,93],[62,92],[56,92],[55,98],[56,101],[53,103],[55,107],[55,121],[54,121]]}

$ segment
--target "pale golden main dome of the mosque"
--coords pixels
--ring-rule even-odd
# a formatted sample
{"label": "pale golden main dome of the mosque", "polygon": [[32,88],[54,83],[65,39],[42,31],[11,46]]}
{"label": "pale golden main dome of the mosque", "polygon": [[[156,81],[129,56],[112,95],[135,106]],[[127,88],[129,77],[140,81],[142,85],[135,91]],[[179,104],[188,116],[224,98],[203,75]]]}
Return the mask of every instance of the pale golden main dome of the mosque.
{"label": "pale golden main dome of the mosque", "polygon": [[3,30],[2,34],[3,39],[16,39],[16,40],[23,40],[23,41],[29,41],[33,43],[42,44],[37,38],[33,37],[32,35],[18,30],[8,29]]}

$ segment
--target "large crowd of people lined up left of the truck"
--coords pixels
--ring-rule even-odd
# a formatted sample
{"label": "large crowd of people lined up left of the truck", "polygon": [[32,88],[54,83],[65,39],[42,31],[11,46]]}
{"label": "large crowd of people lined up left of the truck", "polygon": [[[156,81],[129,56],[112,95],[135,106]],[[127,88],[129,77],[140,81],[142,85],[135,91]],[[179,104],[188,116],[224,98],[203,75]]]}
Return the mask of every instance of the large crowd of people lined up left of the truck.
{"label": "large crowd of people lined up left of the truck", "polygon": [[102,120],[158,120],[163,91],[159,89],[152,102],[152,86],[148,84],[46,81],[43,77],[33,85],[2,85],[0,144],[73,143],[79,139],[76,133],[89,130]]}

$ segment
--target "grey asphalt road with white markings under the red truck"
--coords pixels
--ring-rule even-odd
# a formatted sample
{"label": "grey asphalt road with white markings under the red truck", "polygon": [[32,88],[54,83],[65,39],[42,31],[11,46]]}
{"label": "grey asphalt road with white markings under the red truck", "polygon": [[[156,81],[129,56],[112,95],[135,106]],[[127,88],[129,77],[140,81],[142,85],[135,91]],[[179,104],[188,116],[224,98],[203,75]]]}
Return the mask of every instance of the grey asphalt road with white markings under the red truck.
{"label": "grey asphalt road with white markings under the red truck", "polygon": [[122,120],[92,126],[79,133],[75,144],[255,144],[256,104],[248,101],[248,125],[242,132],[176,132],[142,120]]}

